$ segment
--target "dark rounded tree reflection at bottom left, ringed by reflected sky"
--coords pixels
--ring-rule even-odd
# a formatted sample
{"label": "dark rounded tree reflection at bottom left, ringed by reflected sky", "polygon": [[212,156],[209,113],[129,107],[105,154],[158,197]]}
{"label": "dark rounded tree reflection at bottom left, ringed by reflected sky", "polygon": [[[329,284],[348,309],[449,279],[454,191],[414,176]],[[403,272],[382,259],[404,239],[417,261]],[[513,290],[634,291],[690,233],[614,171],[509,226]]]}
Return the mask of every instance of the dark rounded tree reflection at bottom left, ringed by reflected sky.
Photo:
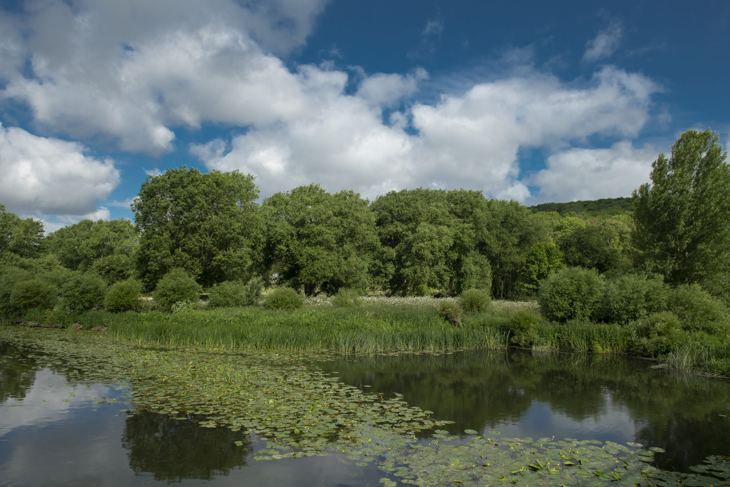
{"label": "dark rounded tree reflection at bottom left, ringed by reflected sky", "polygon": [[[129,467],[150,472],[155,480],[211,480],[246,464],[250,442],[226,428],[201,428],[197,423],[165,415],[139,413],[127,418],[122,445]],[[237,446],[234,441],[244,441]]]}

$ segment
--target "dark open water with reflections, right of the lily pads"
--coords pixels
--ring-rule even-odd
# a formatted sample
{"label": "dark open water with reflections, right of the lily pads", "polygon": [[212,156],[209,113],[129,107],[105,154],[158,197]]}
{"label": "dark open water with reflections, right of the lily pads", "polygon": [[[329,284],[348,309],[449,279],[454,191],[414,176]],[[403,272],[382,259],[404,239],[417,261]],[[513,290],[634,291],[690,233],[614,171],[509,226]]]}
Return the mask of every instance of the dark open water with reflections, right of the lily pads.
{"label": "dark open water with reflections, right of the lily pads", "polygon": [[[652,369],[651,361],[572,353],[461,352],[346,356],[321,367],[369,391],[456,421],[445,429],[593,438],[659,446],[661,467],[688,472],[730,453],[730,383]],[[428,435],[429,432],[425,432]]]}

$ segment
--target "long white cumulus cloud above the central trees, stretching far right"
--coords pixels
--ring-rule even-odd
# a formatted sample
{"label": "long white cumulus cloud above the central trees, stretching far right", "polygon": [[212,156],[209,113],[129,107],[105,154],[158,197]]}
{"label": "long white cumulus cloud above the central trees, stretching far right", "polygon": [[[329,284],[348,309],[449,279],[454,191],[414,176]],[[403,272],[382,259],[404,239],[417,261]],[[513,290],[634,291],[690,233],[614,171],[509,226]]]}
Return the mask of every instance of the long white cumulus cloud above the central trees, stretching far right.
{"label": "long white cumulus cloud above the central trees, stretching far right", "polygon": [[593,134],[636,137],[656,89],[648,78],[615,68],[582,86],[529,72],[442,96],[434,105],[417,103],[383,123],[380,108],[359,91],[349,96],[332,84],[321,88],[316,110],[253,126],[230,143],[193,145],[191,153],[209,169],[257,175],[264,195],[316,182],[371,198],[423,185],[481,188],[524,201],[529,190],[518,180],[520,147],[564,150]]}

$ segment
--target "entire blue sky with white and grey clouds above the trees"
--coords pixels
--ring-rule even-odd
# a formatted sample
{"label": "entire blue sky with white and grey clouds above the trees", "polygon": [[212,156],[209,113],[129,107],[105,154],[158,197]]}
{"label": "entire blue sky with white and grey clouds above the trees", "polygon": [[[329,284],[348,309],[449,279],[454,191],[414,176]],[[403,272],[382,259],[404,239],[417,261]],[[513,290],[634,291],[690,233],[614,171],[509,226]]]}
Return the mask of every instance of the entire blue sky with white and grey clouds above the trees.
{"label": "entire blue sky with white and grey clouds above the trees", "polygon": [[147,175],[629,196],[686,129],[730,142],[730,4],[0,1],[0,203],[130,218]]}

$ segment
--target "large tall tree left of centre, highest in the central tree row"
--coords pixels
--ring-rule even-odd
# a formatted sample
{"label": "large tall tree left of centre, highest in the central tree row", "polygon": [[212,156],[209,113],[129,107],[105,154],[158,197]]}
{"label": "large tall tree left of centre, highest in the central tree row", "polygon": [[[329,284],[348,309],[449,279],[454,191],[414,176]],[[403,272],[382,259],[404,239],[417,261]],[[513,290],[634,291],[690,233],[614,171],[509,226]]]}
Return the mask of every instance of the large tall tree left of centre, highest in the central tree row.
{"label": "large tall tree left of centre, highest in the central tree row", "polygon": [[139,231],[137,268],[147,288],[180,267],[204,285],[250,275],[258,245],[258,186],[238,171],[186,166],[147,177],[132,204]]}

